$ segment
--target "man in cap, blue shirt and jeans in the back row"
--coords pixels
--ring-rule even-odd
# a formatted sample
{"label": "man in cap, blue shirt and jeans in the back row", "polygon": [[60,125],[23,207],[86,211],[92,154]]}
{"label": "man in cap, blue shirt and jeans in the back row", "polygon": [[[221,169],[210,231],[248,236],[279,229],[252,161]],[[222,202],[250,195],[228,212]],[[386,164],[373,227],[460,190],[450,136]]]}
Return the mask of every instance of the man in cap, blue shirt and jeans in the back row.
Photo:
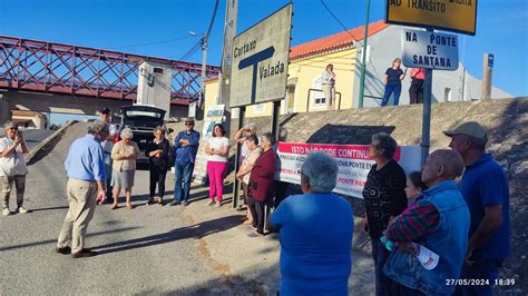
{"label": "man in cap, blue shirt and jeans in the back row", "polygon": [[178,136],[174,139],[174,148],[176,149],[174,200],[167,206],[188,205],[190,177],[198,152],[199,132],[194,130],[193,118],[187,118],[184,122],[185,130],[178,132]]}

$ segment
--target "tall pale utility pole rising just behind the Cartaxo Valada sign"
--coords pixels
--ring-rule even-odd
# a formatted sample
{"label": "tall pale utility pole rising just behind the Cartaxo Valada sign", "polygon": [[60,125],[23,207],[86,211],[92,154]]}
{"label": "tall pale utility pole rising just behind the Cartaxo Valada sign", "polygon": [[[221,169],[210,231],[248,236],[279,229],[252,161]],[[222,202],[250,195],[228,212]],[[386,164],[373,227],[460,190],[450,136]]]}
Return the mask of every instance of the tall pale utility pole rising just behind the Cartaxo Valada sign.
{"label": "tall pale utility pole rising just behind the Cartaxo Valada sign", "polygon": [[[236,36],[236,19],[238,14],[238,0],[227,0],[225,9],[224,23],[224,46],[222,49],[222,67],[221,76],[218,77],[218,97],[217,105],[224,105],[225,128],[227,137],[231,134],[231,67],[233,52],[233,38]],[[238,116],[242,116],[239,114]],[[236,164],[236,161],[235,161]]]}

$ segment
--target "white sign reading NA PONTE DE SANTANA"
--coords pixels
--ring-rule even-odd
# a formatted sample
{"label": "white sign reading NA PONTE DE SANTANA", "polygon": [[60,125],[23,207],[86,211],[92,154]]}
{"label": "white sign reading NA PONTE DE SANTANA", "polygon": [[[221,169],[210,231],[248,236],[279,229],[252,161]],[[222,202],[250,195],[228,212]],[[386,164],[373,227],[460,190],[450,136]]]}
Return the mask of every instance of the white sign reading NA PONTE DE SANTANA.
{"label": "white sign reading NA PONTE DE SANTANA", "polygon": [[458,36],[403,30],[401,39],[403,66],[448,71],[458,69]]}

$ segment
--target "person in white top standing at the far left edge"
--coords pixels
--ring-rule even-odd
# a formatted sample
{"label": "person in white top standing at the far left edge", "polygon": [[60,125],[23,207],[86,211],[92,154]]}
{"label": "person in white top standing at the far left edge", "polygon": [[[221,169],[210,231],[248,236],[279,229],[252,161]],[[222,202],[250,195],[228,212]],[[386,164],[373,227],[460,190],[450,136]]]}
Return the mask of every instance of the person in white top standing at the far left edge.
{"label": "person in white top standing at the far left edge", "polygon": [[4,125],[6,137],[0,139],[0,178],[2,180],[2,215],[11,215],[9,210],[9,197],[11,189],[17,188],[17,210],[26,214],[28,209],[23,207],[23,191],[26,189],[26,174],[28,168],[23,154],[28,152],[26,140],[18,130],[18,125],[8,121]]}

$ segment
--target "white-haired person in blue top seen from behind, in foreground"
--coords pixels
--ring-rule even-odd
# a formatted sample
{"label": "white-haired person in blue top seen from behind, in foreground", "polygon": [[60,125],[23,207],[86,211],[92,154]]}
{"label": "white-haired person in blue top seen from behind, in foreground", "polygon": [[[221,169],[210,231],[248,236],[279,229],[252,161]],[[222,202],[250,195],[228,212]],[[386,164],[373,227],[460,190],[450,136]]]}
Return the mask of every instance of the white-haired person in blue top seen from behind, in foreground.
{"label": "white-haired person in blue top seen from behind, in foreground", "polygon": [[271,216],[268,228],[281,236],[281,295],[348,295],[354,223],[350,203],[332,194],[336,180],[336,161],[310,154],[304,195],[287,197]]}

